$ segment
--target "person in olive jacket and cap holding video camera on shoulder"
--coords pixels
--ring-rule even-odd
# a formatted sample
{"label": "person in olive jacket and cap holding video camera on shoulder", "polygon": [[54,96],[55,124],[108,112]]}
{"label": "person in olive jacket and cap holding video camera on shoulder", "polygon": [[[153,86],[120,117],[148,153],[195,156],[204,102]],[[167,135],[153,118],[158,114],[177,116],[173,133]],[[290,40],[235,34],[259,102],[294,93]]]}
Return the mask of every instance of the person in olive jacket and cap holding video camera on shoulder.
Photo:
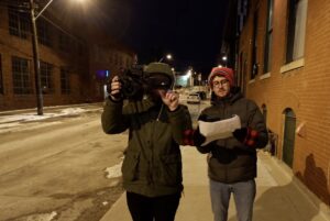
{"label": "person in olive jacket and cap holding video camera on shoulder", "polygon": [[179,145],[191,129],[190,114],[170,90],[175,77],[167,64],[151,63],[142,73],[128,74],[109,85],[102,129],[108,134],[129,129],[122,176],[132,219],[174,221],[183,191]]}

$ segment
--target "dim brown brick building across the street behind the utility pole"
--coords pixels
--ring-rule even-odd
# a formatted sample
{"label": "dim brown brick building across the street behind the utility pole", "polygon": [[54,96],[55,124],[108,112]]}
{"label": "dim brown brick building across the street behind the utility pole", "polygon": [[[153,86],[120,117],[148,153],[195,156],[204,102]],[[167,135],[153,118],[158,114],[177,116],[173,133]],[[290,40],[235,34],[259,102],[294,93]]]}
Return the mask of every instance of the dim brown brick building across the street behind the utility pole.
{"label": "dim brown brick building across the street behind the utility pole", "polygon": [[[131,49],[94,34],[100,27],[65,22],[54,7],[36,26],[44,106],[101,101],[106,74],[133,63]],[[0,111],[36,107],[35,88],[29,1],[0,0]]]}

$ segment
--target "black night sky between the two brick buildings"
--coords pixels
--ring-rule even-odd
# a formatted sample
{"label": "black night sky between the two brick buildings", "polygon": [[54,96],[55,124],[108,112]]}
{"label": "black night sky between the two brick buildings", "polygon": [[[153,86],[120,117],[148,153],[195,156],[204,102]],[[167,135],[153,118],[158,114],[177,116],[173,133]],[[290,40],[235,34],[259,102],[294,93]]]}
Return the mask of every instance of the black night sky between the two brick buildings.
{"label": "black night sky between the two brick buildings", "polygon": [[[220,53],[229,0],[98,0],[99,22],[138,53],[139,63],[167,62],[178,71],[193,66],[208,75]],[[90,8],[88,13],[92,13]]]}

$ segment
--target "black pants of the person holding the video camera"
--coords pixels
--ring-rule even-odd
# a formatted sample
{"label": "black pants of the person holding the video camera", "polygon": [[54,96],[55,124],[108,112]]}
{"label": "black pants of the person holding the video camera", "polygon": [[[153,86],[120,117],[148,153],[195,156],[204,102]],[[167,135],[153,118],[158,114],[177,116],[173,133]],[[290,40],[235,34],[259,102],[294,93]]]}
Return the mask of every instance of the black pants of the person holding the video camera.
{"label": "black pants of the person holding the video camera", "polygon": [[133,221],[174,221],[180,192],[152,198],[127,192],[127,201]]}

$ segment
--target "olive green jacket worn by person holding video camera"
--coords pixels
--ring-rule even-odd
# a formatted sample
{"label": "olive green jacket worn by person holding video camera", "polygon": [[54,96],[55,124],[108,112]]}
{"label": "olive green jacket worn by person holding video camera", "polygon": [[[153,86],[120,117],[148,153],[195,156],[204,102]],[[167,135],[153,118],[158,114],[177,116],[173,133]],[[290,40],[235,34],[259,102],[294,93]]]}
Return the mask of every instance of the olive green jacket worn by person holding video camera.
{"label": "olive green jacket worn by person holding video camera", "polygon": [[183,190],[179,144],[184,131],[191,129],[187,107],[170,112],[147,99],[124,104],[107,99],[101,121],[108,134],[129,129],[122,164],[127,191],[157,197]]}

